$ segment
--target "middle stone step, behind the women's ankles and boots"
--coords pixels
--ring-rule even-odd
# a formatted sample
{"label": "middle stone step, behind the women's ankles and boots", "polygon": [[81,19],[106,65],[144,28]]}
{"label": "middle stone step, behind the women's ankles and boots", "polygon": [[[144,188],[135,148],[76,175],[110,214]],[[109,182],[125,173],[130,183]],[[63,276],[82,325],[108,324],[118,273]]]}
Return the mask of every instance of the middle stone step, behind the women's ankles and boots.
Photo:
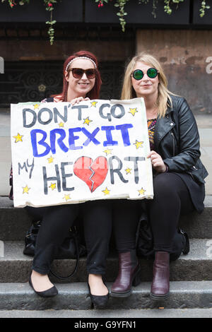
{"label": "middle stone step, behind the women's ankles and boots", "polygon": [[[28,281],[32,260],[23,254],[23,242],[4,242],[4,257],[0,258],[0,283],[25,283]],[[2,255],[3,256],[3,255]],[[151,281],[153,260],[140,259],[141,280]],[[69,275],[75,267],[74,259],[56,259],[52,271],[59,275]],[[112,282],[117,276],[117,254],[110,252],[107,259],[106,280]],[[62,281],[50,275],[53,282]],[[86,282],[86,257],[81,257],[78,270],[69,281]],[[212,280],[212,239],[191,239],[190,252],[170,263],[170,280]]]}

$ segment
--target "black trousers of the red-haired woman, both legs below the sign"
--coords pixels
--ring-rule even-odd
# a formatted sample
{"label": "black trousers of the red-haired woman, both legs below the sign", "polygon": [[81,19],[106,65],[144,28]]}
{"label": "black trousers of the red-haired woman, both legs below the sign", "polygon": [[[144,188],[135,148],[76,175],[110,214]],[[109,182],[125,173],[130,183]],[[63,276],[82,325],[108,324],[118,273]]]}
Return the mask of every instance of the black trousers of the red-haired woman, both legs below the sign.
{"label": "black trousers of the red-haired woman, both legs below the sign", "polygon": [[83,216],[87,256],[87,271],[104,274],[112,230],[112,206],[110,201],[89,201],[81,204],[27,208],[33,220],[42,220],[37,235],[33,270],[47,274],[67,231],[79,214]]}

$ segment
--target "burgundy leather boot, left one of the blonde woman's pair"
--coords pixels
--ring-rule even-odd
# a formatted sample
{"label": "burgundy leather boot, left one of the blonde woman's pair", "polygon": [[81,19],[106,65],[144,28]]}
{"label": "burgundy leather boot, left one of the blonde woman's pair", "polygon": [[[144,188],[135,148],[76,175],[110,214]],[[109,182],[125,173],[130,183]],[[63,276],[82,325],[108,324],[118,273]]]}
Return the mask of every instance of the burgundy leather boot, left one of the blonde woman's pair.
{"label": "burgundy leather boot, left one of the blonde woman's pair", "polygon": [[141,283],[141,267],[136,250],[119,254],[119,273],[111,288],[112,297],[128,297],[131,286]]}

